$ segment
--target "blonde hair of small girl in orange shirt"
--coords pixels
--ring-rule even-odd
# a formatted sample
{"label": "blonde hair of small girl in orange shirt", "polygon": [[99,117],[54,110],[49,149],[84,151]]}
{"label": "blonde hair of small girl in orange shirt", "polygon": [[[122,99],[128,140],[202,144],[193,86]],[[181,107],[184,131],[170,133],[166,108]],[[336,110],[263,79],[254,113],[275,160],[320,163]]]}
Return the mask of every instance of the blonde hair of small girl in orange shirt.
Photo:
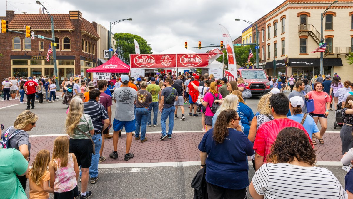
{"label": "blonde hair of small girl in orange shirt", "polygon": [[48,166],[50,161],[50,152],[46,149],[40,150],[36,158],[32,163],[32,168],[29,169],[29,175],[31,176],[31,180],[36,183],[36,185],[40,185],[42,182],[44,175],[47,173]]}

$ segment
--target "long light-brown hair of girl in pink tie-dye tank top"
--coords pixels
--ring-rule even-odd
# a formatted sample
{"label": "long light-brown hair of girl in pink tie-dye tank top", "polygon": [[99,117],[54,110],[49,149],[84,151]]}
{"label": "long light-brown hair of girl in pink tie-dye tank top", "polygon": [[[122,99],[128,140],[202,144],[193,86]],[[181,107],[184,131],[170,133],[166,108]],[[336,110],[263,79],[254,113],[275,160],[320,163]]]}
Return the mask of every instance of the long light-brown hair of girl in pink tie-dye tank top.
{"label": "long light-brown hair of girl in pink tie-dye tank top", "polygon": [[[70,141],[67,136],[59,136],[54,140],[53,158],[58,160],[60,167],[66,167],[68,162],[68,149]],[[57,165],[59,167],[59,165]]]}

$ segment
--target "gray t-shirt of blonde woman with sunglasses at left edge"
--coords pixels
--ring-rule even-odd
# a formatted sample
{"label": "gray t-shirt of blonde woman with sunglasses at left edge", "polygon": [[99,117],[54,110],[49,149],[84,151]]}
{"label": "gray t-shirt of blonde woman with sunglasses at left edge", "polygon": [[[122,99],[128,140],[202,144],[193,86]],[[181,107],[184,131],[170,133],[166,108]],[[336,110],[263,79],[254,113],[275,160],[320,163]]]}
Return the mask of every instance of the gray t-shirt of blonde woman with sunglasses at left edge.
{"label": "gray t-shirt of blonde woman with sunglasses at left edge", "polygon": [[[8,131],[8,136],[11,136],[12,133],[16,132],[18,129],[15,129],[13,126],[9,127],[10,130]],[[1,137],[5,135],[7,129],[2,131],[1,133]],[[29,135],[26,131],[21,131],[19,133],[17,133],[15,136],[13,136],[11,139],[8,140],[10,147],[8,146],[7,148],[15,148],[18,151],[19,146],[22,144],[26,144],[28,145],[28,151],[29,151],[29,155],[28,157],[30,157],[31,155],[31,143],[29,142]]]}

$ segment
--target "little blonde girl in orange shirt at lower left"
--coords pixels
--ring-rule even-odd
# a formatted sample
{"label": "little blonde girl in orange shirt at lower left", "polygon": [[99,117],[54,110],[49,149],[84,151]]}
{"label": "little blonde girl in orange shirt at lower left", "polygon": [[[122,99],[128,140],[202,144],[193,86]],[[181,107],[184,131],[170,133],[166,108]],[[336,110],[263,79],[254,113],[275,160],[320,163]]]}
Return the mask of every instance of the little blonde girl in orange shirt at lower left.
{"label": "little blonde girl in orange shirt at lower left", "polygon": [[46,149],[39,151],[32,163],[32,168],[26,174],[26,178],[29,180],[30,199],[48,199],[49,193],[54,193],[54,189],[49,187],[49,161],[49,151]]}

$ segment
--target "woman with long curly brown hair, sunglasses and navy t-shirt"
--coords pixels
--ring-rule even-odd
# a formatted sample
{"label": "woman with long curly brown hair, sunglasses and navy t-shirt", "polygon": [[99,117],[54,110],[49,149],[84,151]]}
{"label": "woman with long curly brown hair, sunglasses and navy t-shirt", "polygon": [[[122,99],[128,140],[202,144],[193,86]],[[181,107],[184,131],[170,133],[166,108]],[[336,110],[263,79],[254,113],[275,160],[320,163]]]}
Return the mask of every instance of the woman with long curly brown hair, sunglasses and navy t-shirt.
{"label": "woman with long curly brown hair, sunglasses and navy t-shirt", "polygon": [[239,121],[237,111],[222,111],[215,128],[207,131],[198,145],[201,168],[206,166],[209,198],[246,198],[249,186],[247,156],[253,155],[254,150],[241,132]]}

